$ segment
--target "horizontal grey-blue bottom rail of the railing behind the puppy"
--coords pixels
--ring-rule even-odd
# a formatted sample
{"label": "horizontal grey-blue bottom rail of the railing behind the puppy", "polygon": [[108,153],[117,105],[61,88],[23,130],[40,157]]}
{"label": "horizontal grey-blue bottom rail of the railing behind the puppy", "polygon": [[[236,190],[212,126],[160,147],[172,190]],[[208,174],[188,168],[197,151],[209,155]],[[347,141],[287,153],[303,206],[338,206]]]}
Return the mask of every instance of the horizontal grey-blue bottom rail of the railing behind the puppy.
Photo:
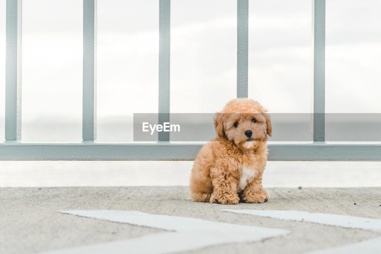
{"label": "horizontal grey-blue bottom rail of the railing behind the puppy", "polygon": [[[2,143],[1,160],[191,161],[204,143]],[[270,161],[381,161],[379,143],[270,143]]]}

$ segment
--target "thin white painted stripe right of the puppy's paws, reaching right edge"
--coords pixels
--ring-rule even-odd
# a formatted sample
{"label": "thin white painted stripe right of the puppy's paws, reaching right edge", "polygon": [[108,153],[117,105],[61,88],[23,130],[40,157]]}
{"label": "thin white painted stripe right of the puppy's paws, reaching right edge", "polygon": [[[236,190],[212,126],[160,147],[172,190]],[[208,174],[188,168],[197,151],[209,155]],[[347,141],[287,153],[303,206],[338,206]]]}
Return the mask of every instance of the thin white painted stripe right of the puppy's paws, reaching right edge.
{"label": "thin white painted stripe right of the puppy's paws, reaching right edge", "polygon": [[324,225],[339,226],[344,228],[360,228],[375,232],[381,232],[381,220],[363,217],[355,217],[339,214],[322,214],[309,213],[303,211],[287,211],[287,210],[234,210],[223,209],[223,212],[234,212],[237,214],[251,214],[264,217],[271,217],[282,220],[296,220],[315,222]]}

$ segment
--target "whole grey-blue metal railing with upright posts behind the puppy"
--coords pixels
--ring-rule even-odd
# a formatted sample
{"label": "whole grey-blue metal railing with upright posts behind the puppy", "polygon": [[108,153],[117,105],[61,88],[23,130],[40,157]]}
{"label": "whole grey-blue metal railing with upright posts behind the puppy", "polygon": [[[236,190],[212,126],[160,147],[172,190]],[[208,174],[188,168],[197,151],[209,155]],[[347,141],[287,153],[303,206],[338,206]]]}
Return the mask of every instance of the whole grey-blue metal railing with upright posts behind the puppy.
{"label": "whole grey-blue metal railing with upright posts behind the puppy", "polygon": [[[313,100],[311,142],[269,142],[269,160],[381,161],[381,143],[325,142],[325,0],[312,0]],[[83,0],[81,143],[21,142],[22,0],[6,0],[5,141],[2,160],[192,160],[204,143],[96,142],[96,0]],[[170,0],[159,3],[158,122],[170,113]],[[237,0],[237,97],[248,96],[248,0]]]}

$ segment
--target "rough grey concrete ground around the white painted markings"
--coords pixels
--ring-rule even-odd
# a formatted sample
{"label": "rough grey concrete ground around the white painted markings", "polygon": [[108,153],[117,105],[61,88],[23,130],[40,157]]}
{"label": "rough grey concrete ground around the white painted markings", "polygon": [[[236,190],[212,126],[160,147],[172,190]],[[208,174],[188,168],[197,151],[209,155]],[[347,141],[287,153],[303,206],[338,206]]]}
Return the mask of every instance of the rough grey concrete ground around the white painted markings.
{"label": "rough grey concrete ground around the white painted markings", "polygon": [[360,229],[220,211],[298,210],[381,219],[381,188],[267,190],[271,199],[264,204],[215,206],[192,202],[185,186],[0,188],[0,253],[35,253],[163,231],[61,214],[60,209],[136,210],[291,231],[264,241],[211,246],[187,253],[303,253],[381,236]]}

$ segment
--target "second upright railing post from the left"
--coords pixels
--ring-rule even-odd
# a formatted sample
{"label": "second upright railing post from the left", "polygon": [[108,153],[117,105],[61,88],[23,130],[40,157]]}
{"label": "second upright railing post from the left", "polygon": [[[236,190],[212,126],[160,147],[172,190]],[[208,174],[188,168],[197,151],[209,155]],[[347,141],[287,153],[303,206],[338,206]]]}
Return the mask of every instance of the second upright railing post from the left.
{"label": "second upright railing post from the left", "polygon": [[83,0],[83,141],[96,140],[96,6],[96,0]]}

